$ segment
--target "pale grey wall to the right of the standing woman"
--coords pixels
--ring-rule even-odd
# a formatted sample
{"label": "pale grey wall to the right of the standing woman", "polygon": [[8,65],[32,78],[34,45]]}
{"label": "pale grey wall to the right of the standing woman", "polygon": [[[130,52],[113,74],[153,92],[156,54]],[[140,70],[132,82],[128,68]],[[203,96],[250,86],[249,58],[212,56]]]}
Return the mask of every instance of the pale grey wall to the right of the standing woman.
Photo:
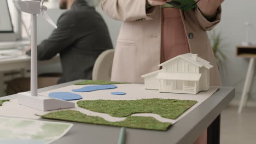
{"label": "pale grey wall to the right of the standing woman", "polygon": [[[236,87],[236,98],[240,99],[240,95],[245,82],[245,76],[248,68],[247,58],[236,57],[236,45],[245,40],[246,21],[250,21],[256,29],[256,1],[225,1],[222,5],[222,21],[216,27],[224,38],[224,43],[228,44],[223,51],[228,57],[225,62],[226,70],[223,70],[222,78],[224,86]],[[251,42],[256,44],[256,31],[251,31]],[[254,85],[251,91],[251,100],[256,100],[256,79],[254,77]]]}

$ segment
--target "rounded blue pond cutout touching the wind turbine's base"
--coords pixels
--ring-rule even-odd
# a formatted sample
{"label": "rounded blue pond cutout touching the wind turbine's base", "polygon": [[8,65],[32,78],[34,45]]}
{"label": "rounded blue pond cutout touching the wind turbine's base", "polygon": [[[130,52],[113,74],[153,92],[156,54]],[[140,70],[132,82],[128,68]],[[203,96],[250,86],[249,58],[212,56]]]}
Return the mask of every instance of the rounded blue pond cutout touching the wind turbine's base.
{"label": "rounded blue pond cutout touching the wind turbine's base", "polygon": [[62,100],[78,100],[82,99],[83,97],[79,94],[69,93],[69,92],[55,92],[49,93],[50,98],[55,99],[62,99]]}

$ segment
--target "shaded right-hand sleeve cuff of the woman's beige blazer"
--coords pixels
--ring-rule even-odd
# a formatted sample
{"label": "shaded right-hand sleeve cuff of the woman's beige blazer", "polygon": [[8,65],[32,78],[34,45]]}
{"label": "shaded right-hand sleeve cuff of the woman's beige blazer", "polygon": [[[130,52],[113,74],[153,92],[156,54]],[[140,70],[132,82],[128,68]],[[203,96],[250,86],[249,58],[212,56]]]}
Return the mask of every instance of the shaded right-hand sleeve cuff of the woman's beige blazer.
{"label": "shaded right-hand sleeve cuff of the woman's beige blazer", "polygon": [[214,21],[208,21],[205,16],[202,15],[201,11],[199,8],[195,9],[195,16],[197,21],[199,22],[199,25],[205,29],[205,31],[211,31],[211,29],[213,29],[215,26],[218,25],[218,23],[220,22],[221,19],[221,15],[222,15],[222,8],[219,7],[218,8],[218,13],[216,15],[216,18]]}

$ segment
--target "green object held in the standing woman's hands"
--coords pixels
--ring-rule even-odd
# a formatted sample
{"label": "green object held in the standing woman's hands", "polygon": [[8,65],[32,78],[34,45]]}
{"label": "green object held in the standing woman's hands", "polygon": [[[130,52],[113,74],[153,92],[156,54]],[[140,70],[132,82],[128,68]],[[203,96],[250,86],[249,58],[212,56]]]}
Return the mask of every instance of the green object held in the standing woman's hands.
{"label": "green object held in the standing woman's hands", "polygon": [[172,0],[170,2],[167,2],[168,4],[171,4],[174,8],[182,9],[184,11],[194,9],[197,7],[197,3],[201,1],[194,1],[194,0]]}

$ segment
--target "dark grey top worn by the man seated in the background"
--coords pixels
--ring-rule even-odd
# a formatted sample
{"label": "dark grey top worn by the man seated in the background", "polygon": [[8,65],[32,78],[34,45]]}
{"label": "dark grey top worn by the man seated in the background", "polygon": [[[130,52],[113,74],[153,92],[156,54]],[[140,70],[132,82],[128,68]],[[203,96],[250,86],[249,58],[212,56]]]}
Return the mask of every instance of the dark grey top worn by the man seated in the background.
{"label": "dark grey top worn by the man seated in the background", "polygon": [[95,8],[77,0],[60,16],[57,27],[38,45],[38,59],[50,59],[60,53],[63,74],[59,83],[90,80],[98,55],[113,49],[106,23]]}

